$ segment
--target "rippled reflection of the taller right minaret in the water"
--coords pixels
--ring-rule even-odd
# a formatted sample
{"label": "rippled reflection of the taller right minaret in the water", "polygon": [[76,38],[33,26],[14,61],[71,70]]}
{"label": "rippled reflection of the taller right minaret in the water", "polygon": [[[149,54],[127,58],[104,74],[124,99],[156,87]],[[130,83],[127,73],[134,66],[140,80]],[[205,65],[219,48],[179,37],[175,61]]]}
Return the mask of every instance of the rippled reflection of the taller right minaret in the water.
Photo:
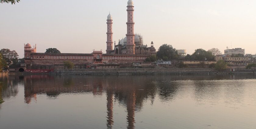
{"label": "rippled reflection of the taller right minaret in the water", "polygon": [[135,101],[136,101],[136,96],[135,96],[135,91],[133,91],[132,94],[127,97],[127,122],[128,122],[127,129],[134,129]]}

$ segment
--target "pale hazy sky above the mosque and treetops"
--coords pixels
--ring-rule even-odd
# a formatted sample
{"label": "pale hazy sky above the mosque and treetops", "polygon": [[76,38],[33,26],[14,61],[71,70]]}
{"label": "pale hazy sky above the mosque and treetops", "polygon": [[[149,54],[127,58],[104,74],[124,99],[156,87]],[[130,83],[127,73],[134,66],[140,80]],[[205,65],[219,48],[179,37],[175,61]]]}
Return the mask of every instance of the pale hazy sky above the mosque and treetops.
{"label": "pale hazy sky above the mosque and treetops", "polygon": [[[24,43],[37,52],[105,53],[106,19],[113,17],[113,39],[126,34],[128,0],[21,0],[0,4],[0,49],[23,57]],[[170,44],[193,53],[228,46],[256,53],[256,0],[133,0],[135,32],[156,49]]]}

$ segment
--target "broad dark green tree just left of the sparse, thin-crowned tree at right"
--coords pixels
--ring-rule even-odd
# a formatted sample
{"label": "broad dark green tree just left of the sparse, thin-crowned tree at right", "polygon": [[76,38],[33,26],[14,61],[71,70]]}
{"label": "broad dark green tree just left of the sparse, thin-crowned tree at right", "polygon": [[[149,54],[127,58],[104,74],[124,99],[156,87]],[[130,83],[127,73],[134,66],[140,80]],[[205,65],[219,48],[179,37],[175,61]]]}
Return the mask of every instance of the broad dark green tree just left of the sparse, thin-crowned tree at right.
{"label": "broad dark green tree just left of the sparse, thin-crowned tree at right", "polygon": [[211,52],[207,52],[204,49],[196,49],[192,54],[191,59],[193,60],[213,60],[215,56]]}

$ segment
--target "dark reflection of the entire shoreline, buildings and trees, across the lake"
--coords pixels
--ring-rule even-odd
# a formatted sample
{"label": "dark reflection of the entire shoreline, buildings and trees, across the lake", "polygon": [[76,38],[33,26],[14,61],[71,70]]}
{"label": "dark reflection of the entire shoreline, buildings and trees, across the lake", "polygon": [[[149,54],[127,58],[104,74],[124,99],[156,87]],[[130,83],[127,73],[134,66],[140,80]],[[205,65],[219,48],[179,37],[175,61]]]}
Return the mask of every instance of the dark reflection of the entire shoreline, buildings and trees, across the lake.
{"label": "dark reflection of the entire shoreline, buildings and trees, across the lake", "polygon": [[[182,93],[194,92],[197,104],[217,103],[222,96],[228,97],[224,101],[240,103],[243,98],[244,85],[240,87],[222,87],[231,80],[254,78],[252,75],[218,75],[218,76],[51,76],[51,75],[15,75],[2,76],[0,83],[0,98],[15,97],[18,83],[24,85],[24,103],[37,102],[37,95],[46,95],[49,99],[57,99],[65,94],[93,94],[94,97],[106,95],[106,126],[111,129],[114,125],[114,103],[126,108],[127,129],[135,128],[135,114],[143,110],[148,100],[151,105],[155,98],[161,102],[173,101]],[[182,81],[188,80],[188,81]],[[204,81],[211,80],[211,81]],[[230,80],[216,81],[216,80]],[[189,89],[187,86],[194,86]],[[224,89],[223,89],[224,88]],[[237,89],[239,88],[239,89]],[[225,91],[225,94],[221,91]],[[232,94],[233,95],[230,95]],[[224,97],[225,98],[225,97]],[[1,105],[0,105],[1,106]],[[1,107],[0,107],[1,108]]]}

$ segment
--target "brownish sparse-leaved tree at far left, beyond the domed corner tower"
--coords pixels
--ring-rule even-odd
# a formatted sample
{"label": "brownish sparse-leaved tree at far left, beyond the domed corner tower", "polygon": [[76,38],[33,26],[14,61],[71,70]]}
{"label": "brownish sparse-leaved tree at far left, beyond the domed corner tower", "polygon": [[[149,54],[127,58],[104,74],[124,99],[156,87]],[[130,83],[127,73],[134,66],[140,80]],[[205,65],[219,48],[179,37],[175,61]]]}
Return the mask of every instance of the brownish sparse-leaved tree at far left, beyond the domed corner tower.
{"label": "brownish sparse-leaved tree at far left, beyond the domed corner tower", "polygon": [[18,62],[18,54],[15,50],[10,50],[10,49],[1,49],[0,53],[3,56],[3,59],[7,63],[8,66],[10,66],[12,63],[17,63]]}

